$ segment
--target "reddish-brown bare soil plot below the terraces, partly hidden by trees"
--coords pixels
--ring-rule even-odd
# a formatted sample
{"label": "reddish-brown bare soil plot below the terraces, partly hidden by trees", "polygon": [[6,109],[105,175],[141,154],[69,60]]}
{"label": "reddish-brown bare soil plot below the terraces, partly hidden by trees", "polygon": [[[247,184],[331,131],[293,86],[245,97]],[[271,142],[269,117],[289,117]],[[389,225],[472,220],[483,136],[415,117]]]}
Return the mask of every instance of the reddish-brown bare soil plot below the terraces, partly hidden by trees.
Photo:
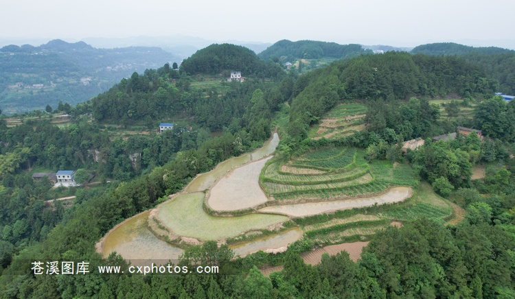
{"label": "reddish-brown bare soil plot below the terraces, partly hidden by trees", "polygon": [[[346,252],[349,252],[350,259],[352,261],[356,262],[361,256],[361,252],[363,251],[363,248],[367,246],[368,242],[354,242],[354,243],[343,243],[343,244],[336,244],[336,245],[330,245],[325,246],[323,248],[319,248],[317,250],[313,250],[310,252],[304,252],[301,254],[302,259],[304,260],[304,263],[310,264],[310,265],[317,265],[322,261],[322,254],[328,253],[329,255],[336,255],[339,252],[345,250]],[[268,276],[272,272],[282,271],[283,266],[274,266],[274,267],[264,267],[261,269],[261,272]]]}

